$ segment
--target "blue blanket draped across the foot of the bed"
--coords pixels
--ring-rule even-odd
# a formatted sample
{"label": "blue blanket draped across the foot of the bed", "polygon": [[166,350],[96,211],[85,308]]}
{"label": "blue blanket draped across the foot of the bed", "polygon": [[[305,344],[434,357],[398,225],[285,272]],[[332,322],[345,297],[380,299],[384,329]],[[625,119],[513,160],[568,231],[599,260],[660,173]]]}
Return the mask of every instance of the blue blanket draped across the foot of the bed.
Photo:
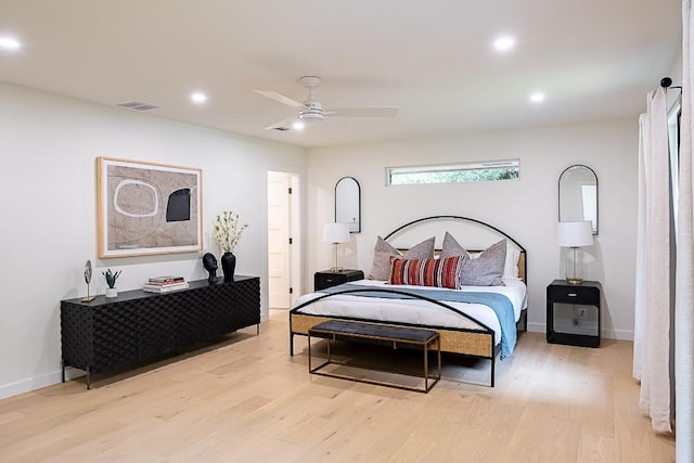
{"label": "blue blanket draped across the foot of the bed", "polygon": [[[513,348],[516,345],[516,322],[513,310],[513,304],[503,294],[498,293],[467,293],[467,292],[453,292],[442,290],[417,290],[412,287],[398,287],[398,286],[368,286],[359,284],[340,284],[337,286],[321,290],[320,293],[336,294],[345,291],[359,290],[358,293],[354,293],[354,296],[362,297],[381,297],[386,299],[414,299],[416,296],[421,296],[428,299],[448,301],[448,303],[466,303],[466,304],[483,304],[494,311],[501,325],[501,360],[505,359],[513,352]],[[372,290],[372,291],[363,291]],[[408,293],[414,295],[414,297],[408,297],[406,294],[386,293],[378,290],[397,291],[400,293]]]}

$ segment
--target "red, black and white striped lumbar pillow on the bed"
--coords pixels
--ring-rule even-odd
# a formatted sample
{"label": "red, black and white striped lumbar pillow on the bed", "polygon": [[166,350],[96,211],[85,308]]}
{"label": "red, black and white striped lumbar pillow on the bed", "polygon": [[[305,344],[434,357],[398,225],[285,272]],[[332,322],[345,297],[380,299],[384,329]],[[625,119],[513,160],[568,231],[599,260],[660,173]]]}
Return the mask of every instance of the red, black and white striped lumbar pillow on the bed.
{"label": "red, black and white striped lumbar pillow on the bed", "polygon": [[455,290],[458,275],[466,257],[445,259],[399,259],[390,257],[390,284],[413,284]]}

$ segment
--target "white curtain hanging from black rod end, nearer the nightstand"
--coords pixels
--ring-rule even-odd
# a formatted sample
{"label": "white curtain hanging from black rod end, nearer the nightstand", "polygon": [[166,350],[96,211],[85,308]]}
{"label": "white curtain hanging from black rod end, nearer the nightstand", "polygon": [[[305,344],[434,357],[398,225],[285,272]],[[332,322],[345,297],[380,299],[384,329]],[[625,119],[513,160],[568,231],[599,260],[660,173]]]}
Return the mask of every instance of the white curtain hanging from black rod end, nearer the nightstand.
{"label": "white curtain hanging from black rod end, nearer the nightstand", "polygon": [[663,88],[648,93],[640,123],[633,375],[641,381],[639,406],[653,428],[671,432],[670,176]]}

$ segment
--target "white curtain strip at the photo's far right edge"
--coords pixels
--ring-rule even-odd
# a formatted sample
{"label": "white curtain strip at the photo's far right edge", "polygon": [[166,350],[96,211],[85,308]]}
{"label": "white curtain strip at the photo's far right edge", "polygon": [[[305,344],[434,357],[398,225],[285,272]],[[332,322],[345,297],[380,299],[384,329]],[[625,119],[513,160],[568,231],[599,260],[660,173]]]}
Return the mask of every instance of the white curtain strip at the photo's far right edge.
{"label": "white curtain strip at the photo's far right edge", "polygon": [[676,452],[694,461],[694,228],[692,191],[692,1],[682,2],[682,120],[674,300]]}

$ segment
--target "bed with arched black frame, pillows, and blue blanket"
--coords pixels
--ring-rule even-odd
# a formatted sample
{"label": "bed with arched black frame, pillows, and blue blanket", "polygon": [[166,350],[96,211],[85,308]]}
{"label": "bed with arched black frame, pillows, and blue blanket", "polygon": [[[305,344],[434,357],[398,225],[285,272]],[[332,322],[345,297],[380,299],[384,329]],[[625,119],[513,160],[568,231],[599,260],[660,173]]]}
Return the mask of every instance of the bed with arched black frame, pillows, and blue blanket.
{"label": "bed with arched black frame, pillows, and blue blanket", "polygon": [[[441,247],[436,236],[444,236]],[[429,252],[436,256],[428,258]],[[493,387],[497,357],[512,355],[516,331],[527,330],[526,249],[480,220],[432,216],[378,236],[373,255],[372,279],[297,299],[290,310],[290,353],[295,335],[330,319],[430,329],[442,352],[488,359]]]}

